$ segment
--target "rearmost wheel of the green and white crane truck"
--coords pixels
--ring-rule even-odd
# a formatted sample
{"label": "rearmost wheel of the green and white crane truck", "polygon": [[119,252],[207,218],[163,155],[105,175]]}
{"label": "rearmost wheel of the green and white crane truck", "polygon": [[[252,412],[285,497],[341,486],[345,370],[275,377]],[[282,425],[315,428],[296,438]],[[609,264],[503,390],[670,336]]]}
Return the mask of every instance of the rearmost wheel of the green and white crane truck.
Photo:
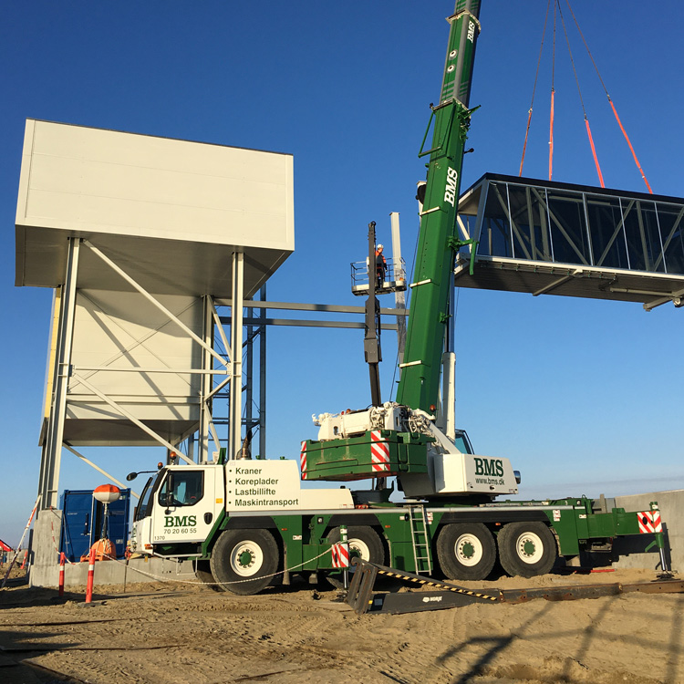
{"label": "rearmost wheel of the green and white crane truck", "polygon": [[512,576],[545,575],[554,566],[558,547],[544,523],[508,523],[497,537],[499,560]]}

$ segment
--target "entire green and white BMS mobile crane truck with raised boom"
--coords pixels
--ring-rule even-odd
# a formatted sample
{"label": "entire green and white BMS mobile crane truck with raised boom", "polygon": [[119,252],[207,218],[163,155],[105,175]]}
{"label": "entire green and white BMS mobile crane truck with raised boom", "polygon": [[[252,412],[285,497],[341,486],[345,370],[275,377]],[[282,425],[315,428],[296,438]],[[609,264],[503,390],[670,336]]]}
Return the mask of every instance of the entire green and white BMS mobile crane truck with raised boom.
{"label": "entire green and white BMS mobile crane truck with raised boom", "polygon": [[[291,573],[324,573],[334,581],[344,565],[337,553],[343,528],[351,554],[451,579],[483,579],[497,559],[509,575],[542,575],[559,554],[606,551],[617,536],[645,532],[655,534],[662,560],[656,503],[626,513],[585,497],[497,501],[518,492],[518,473],[508,459],[476,455],[466,433],[453,427],[449,306],[462,245],[457,200],[479,9],[480,0],[457,0],[448,18],[440,101],[430,106],[432,145],[420,152],[429,164],[419,192],[420,238],[396,402],[382,403],[379,396],[378,309],[369,266],[364,347],[370,408],[317,416],[318,439],[302,442],[299,468],[294,460],[223,456],[216,463],[161,468],[135,511],[133,552],[194,559],[202,580],[244,595],[276,579],[287,582]],[[372,245],[369,254],[373,258]],[[390,476],[397,478],[402,502],[389,500]],[[366,491],[302,486],[370,478],[373,487]]]}

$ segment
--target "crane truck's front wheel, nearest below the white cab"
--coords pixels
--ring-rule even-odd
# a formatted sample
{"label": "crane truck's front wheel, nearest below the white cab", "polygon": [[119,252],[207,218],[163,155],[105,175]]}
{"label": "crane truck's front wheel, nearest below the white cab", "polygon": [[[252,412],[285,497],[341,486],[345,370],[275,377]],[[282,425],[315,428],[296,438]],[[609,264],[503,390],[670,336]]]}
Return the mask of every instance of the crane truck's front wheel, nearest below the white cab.
{"label": "crane truck's front wheel, nearest below the white cab", "polygon": [[226,530],[214,544],[210,567],[223,591],[251,596],[271,584],[279,560],[266,530]]}

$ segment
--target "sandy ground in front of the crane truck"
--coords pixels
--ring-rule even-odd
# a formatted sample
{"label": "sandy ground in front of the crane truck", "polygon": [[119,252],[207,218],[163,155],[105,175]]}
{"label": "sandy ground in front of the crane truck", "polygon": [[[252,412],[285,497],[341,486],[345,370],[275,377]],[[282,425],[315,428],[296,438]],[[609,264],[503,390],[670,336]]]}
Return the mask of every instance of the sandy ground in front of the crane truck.
{"label": "sandy ground in front of the crane truck", "polygon": [[[502,578],[471,588],[650,581],[652,573]],[[464,586],[467,583],[463,583]],[[0,681],[656,684],[684,682],[684,594],[543,599],[356,615],[298,584],[232,596],[192,584],[0,593]]]}

